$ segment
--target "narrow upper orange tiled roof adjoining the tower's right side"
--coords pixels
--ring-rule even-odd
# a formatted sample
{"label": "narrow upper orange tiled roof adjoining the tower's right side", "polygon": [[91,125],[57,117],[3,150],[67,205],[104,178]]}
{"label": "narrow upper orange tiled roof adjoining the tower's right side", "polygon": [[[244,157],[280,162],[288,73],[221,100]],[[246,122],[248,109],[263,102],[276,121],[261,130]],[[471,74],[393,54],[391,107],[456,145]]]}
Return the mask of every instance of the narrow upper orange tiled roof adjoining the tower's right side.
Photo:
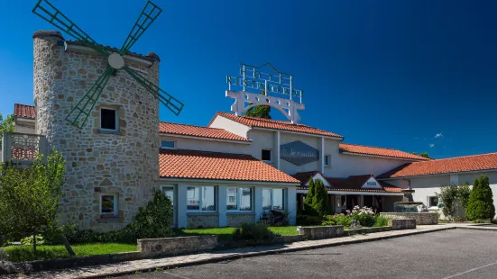
{"label": "narrow upper orange tiled roof adjoining the tower's right side", "polygon": [[251,141],[250,139],[245,139],[244,137],[240,137],[232,132],[223,129],[171,122],[160,122],[159,132],[199,138]]}

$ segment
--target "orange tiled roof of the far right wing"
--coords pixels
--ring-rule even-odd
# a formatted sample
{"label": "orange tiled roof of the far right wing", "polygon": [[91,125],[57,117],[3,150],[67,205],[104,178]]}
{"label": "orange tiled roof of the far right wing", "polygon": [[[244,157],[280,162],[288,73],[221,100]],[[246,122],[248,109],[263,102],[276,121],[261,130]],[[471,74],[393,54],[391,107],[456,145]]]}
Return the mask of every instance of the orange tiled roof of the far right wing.
{"label": "orange tiled roof of the far right wing", "polygon": [[437,175],[487,169],[497,169],[497,153],[465,157],[449,157],[446,159],[431,160],[427,162],[404,164],[378,177],[393,178],[417,175]]}

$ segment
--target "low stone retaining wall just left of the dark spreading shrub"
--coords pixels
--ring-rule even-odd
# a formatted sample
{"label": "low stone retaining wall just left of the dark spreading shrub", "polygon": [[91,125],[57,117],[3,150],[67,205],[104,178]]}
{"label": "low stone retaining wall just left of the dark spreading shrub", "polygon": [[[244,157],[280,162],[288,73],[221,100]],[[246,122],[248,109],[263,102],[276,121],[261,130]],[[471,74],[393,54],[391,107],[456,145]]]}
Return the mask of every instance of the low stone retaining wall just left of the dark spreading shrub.
{"label": "low stone retaining wall just left of the dark spreading shrub", "polygon": [[217,236],[138,239],[138,251],[142,257],[193,253],[212,250],[216,246]]}

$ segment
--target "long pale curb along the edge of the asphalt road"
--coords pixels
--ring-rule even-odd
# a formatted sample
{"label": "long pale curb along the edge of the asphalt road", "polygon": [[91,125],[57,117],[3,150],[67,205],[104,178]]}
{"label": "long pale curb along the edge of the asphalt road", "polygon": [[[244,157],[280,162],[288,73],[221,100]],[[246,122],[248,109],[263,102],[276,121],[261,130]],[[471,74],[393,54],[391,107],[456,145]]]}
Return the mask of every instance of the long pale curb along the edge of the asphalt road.
{"label": "long pale curb along the edge of the asphalt road", "polygon": [[[390,239],[390,238],[401,238],[401,237],[407,237],[407,236],[412,236],[412,235],[418,235],[418,234],[423,234],[423,233],[428,233],[428,232],[436,232],[436,231],[448,230],[448,229],[458,229],[458,228],[456,226],[451,226],[451,227],[446,227],[446,228],[411,231],[411,232],[406,232],[403,234],[392,235],[392,236],[383,236],[383,237],[375,237],[375,238],[367,238],[367,239],[354,239],[354,240],[345,240],[345,241],[336,242],[336,243],[317,244],[317,245],[308,246],[308,247],[290,247],[290,248],[281,248],[281,249],[266,250],[266,251],[260,251],[260,252],[249,252],[248,254],[235,254],[235,255],[229,255],[229,256],[225,256],[225,257],[216,257],[216,258],[194,260],[194,261],[191,261],[188,263],[181,263],[181,264],[174,264],[174,265],[160,265],[160,266],[154,266],[154,267],[143,268],[143,269],[134,269],[133,271],[108,273],[108,274],[102,274],[102,275],[91,275],[91,276],[84,276],[84,277],[77,277],[77,278],[97,279],[97,278],[115,277],[115,276],[122,276],[122,275],[132,275],[133,272],[143,272],[143,273],[152,272],[153,269],[155,269],[155,268],[162,268],[164,270],[167,270],[170,268],[177,268],[177,267],[198,266],[198,265],[224,262],[226,260],[235,260],[235,259],[244,258],[244,257],[259,257],[259,256],[267,256],[267,255],[274,255],[274,254],[282,254],[282,253],[297,252],[297,251],[302,251],[302,250],[316,249],[316,248],[322,248],[322,247],[336,247],[336,246],[357,244],[357,243],[363,243],[363,242],[373,242],[373,241],[377,241],[377,240],[384,240],[384,239]],[[310,240],[310,241],[312,241],[312,240]]]}

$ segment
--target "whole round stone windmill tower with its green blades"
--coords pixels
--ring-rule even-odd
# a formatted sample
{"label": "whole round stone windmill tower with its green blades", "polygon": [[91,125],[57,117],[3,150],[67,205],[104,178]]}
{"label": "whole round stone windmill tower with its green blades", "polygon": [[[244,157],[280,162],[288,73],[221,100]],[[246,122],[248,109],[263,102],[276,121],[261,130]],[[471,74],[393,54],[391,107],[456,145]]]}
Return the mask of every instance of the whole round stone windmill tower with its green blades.
{"label": "whole round stone windmill tower with its green blades", "polygon": [[123,228],[158,184],[159,102],[169,100],[164,104],[176,114],[182,103],[161,94],[157,55],[128,50],[159,15],[154,11],[161,12],[147,3],[123,48],[111,49],[47,1],[33,9],[77,39],[59,31],[33,34],[33,94],[36,132],[67,162],[62,221],[81,229]]}

